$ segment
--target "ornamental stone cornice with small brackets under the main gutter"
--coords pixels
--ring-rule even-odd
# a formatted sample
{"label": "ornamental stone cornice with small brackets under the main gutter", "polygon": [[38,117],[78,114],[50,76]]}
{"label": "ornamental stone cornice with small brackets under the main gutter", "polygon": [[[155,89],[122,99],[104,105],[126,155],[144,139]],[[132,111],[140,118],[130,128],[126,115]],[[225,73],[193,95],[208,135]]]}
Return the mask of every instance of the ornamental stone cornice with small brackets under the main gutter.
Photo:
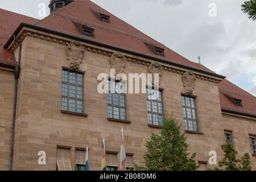
{"label": "ornamental stone cornice with small brackets under the main gutter", "polygon": [[[114,51],[114,50],[111,50],[108,48],[94,46],[93,44],[76,41],[73,39],[65,38],[63,36],[49,34],[47,32],[38,31],[38,30],[34,30],[32,28],[27,28],[27,27],[23,27],[22,30],[20,30],[18,36],[16,36],[16,41],[18,43],[21,43],[26,38],[26,36],[30,36],[30,37],[34,37],[34,38],[42,39],[42,40],[47,40],[49,42],[53,42],[53,43],[57,43],[57,44],[63,44],[65,46],[68,46],[72,42],[79,42],[84,47],[85,51],[94,52],[94,53],[98,53],[98,54],[109,56],[109,57],[111,57],[113,55],[113,53],[121,53],[122,55],[124,55],[126,57],[126,61],[129,61],[131,63],[141,64],[141,65],[146,65],[147,67],[149,67],[151,65],[151,63],[158,62],[156,60],[143,59],[139,56],[133,56],[131,54]],[[15,51],[15,49],[19,46],[19,44],[17,42],[13,41],[9,44],[9,47],[8,47],[9,51],[11,51],[11,52]],[[184,75],[185,72],[190,71],[189,69],[180,68],[175,65],[171,65],[171,64],[169,65],[169,64],[160,63],[160,62],[158,62],[158,63],[162,66],[163,71],[173,72],[173,73],[177,73],[180,75]],[[214,83],[218,83],[223,80],[216,76],[207,75],[206,73],[200,73],[200,72],[196,72],[196,71],[193,71],[193,73],[195,74],[195,77],[200,80],[210,81],[210,82],[214,82]]]}

